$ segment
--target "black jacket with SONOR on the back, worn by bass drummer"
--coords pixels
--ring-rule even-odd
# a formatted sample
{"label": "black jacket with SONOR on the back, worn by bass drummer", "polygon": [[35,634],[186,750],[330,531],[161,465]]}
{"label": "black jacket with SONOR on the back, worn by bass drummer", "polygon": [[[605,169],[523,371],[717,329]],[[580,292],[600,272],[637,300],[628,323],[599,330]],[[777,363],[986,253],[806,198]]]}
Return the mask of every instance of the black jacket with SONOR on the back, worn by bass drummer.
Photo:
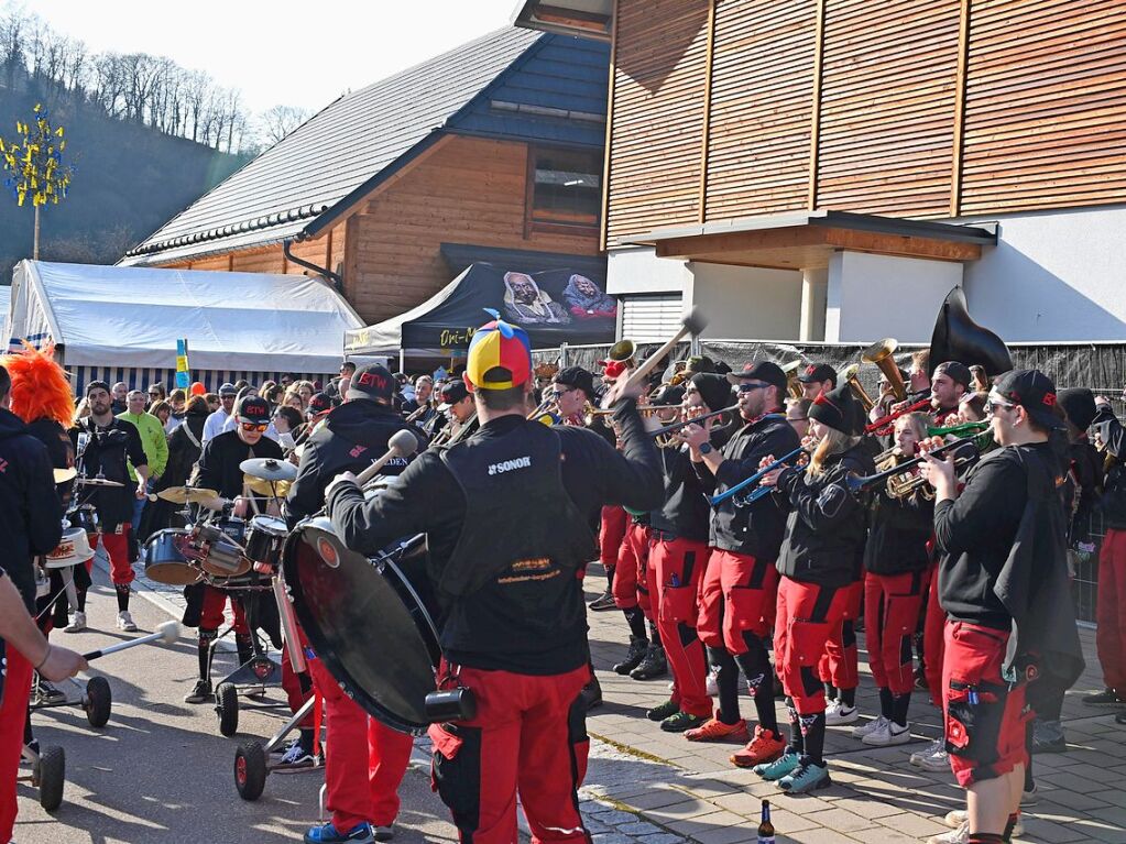
{"label": "black jacket with SONOR on the back, worn by bass drummer", "polygon": [[[563,490],[578,509],[581,520],[597,519],[605,504],[624,504],[636,510],[652,510],[661,503],[662,485],[656,449],[637,415],[633,402],[619,402],[616,421],[626,431],[625,454],[615,451],[597,434],[580,428],[556,425],[547,429],[558,438],[560,473]],[[477,433],[450,452],[470,445],[504,441],[524,425],[538,425],[519,415],[502,416],[483,425]],[[512,438],[518,441],[518,437]],[[458,547],[463,529],[480,531],[524,531],[525,535],[556,537],[527,563],[551,560],[558,568],[573,569],[586,559],[558,559],[558,548],[573,537],[552,531],[557,513],[528,502],[488,524],[466,524],[470,506],[458,479],[439,454],[431,449],[415,459],[383,493],[370,501],[352,484],[334,487],[328,502],[329,514],[341,541],[359,553],[372,554],[404,536],[425,532],[430,550],[430,582],[437,587]],[[495,464],[507,474],[520,468],[521,455]],[[511,464],[511,467],[509,466]],[[480,555],[488,562],[490,547]],[[466,549],[459,555],[464,558]],[[588,557],[589,559],[589,557]],[[555,569],[553,569],[555,571]],[[441,646],[454,662],[488,670],[524,674],[558,674],[584,665],[589,658],[582,583],[570,576],[524,582],[504,589],[497,581],[480,593],[444,601],[439,626]],[[503,594],[502,594],[503,593]],[[552,595],[552,600],[545,600]],[[506,599],[507,596],[507,599]],[[513,600],[516,599],[516,600]]]}

